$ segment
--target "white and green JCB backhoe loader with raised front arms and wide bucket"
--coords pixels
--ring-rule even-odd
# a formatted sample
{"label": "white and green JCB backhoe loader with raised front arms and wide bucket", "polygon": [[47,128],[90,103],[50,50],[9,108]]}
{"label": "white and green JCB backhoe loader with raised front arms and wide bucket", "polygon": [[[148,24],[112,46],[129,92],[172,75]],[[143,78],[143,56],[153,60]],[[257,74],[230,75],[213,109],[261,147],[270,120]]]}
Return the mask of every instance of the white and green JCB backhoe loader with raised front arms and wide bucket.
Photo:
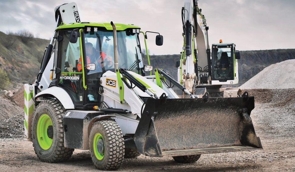
{"label": "white and green JCB backhoe loader with raised front arms and wide bucket", "polygon": [[24,85],[25,140],[42,162],[69,160],[80,149],[97,169],[116,170],[139,155],[193,163],[201,154],[262,149],[250,117],[254,97],[199,97],[143,64],[147,34],[157,34],[160,46],[159,33],[82,22],[75,2],[57,6],[55,21],[35,83]]}

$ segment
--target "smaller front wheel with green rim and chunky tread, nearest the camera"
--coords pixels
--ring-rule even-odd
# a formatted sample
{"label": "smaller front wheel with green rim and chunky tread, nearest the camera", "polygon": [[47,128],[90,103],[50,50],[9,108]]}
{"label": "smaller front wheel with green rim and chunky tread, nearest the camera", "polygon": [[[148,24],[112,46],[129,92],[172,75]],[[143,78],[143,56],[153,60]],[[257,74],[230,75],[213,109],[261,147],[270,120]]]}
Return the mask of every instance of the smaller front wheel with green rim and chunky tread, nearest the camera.
{"label": "smaller front wheel with green rim and chunky tread, nearest the camera", "polygon": [[94,166],[99,170],[116,170],[124,160],[124,138],[115,121],[104,120],[93,124],[89,149]]}

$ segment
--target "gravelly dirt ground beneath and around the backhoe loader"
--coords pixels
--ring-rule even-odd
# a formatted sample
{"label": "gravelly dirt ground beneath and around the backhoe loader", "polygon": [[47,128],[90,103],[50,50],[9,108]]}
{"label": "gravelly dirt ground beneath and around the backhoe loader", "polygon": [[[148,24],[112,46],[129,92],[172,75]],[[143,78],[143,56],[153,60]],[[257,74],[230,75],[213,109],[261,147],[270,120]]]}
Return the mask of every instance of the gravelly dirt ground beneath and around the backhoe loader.
{"label": "gravelly dirt ground beneath and around the backhoe loader", "polygon": [[[251,113],[263,150],[204,154],[193,164],[179,164],[172,158],[143,155],[124,159],[116,171],[295,171],[295,89],[249,91],[255,94]],[[0,171],[99,171],[92,165],[89,151],[75,150],[62,163],[42,163],[32,142],[23,138],[0,139]]]}

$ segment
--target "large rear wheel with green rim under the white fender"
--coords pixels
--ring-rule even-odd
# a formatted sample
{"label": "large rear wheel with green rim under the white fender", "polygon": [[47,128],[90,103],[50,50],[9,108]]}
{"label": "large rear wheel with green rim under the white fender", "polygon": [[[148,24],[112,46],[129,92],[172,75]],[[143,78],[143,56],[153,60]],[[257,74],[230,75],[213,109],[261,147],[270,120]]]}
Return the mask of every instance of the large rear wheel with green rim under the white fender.
{"label": "large rear wheel with green rim under the white fender", "polygon": [[57,100],[41,101],[32,118],[32,142],[42,162],[69,159],[74,149],[64,147],[63,115],[65,108]]}

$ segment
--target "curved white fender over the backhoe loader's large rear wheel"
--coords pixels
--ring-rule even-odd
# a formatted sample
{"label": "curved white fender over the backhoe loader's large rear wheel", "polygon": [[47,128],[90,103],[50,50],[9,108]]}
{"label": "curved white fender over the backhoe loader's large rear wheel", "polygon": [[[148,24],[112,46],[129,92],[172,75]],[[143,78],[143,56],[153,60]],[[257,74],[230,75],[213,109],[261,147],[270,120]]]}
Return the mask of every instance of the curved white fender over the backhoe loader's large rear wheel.
{"label": "curved white fender over the backhoe loader's large rear wheel", "polygon": [[62,88],[60,87],[50,87],[47,88],[40,93],[36,94],[35,98],[39,97],[55,97],[57,98],[63,105],[65,109],[74,109],[74,103],[69,96],[69,94]]}

